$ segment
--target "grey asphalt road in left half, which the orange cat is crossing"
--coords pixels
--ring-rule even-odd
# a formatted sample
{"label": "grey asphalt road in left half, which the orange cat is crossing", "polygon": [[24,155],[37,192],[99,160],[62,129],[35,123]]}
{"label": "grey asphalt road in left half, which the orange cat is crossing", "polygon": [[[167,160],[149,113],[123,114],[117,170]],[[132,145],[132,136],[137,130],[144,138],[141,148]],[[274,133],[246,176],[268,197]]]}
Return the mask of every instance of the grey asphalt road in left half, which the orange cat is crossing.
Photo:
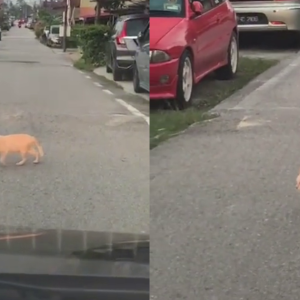
{"label": "grey asphalt road in left half, which the orange cat is crossing", "polygon": [[0,224],[148,232],[148,125],[25,28],[0,42],[0,134],[36,136],[43,162],[0,167]]}

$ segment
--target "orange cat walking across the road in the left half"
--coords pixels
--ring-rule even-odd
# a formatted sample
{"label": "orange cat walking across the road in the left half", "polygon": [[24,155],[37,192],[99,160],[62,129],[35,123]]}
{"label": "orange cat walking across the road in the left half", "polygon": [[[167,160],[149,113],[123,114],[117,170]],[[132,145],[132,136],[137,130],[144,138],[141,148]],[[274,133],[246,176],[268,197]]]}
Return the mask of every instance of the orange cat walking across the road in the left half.
{"label": "orange cat walking across the road in the left half", "polygon": [[17,166],[22,166],[27,160],[28,154],[33,155],[33,163],[39,163],[41,156],[44,156],[42,146],[37,139],[28,134],[10,134],[0,136],[0,162],[5,166],[6,156],[10,153],[20,153],[22,160]]}

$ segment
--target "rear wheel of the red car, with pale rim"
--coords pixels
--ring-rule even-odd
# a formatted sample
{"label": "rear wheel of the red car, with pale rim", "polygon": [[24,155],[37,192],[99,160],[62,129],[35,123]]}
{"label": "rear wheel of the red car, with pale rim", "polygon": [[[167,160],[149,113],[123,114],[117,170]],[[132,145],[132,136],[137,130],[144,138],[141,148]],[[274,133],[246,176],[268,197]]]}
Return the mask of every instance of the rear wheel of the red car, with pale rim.
{"label": "rear wheel of the red car, with pale rim", "polygon": [[238,70],[239,63],[239,45],[235,32],[232,33],[230,43],[227,50],[227,65],[216,71],[217,78],[220,80],[232,79]]}

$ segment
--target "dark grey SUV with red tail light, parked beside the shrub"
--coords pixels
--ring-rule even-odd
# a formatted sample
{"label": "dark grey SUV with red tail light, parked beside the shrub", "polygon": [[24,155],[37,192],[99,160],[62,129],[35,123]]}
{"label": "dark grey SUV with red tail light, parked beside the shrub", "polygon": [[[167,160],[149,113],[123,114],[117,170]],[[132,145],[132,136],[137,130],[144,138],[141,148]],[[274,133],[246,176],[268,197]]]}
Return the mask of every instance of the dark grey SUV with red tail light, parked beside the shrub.
{"label": "dark grey SUV with red tail light, parked beside the shrub", "polygon": [[134,50],[128,50],[124,37],[137,37],[148,25],[149,15],[135,14],[121,16],[114,26],[114,34],[106,46],[106,71],[113,73],[113,79],[120,81],[124,73],[132,72]]}

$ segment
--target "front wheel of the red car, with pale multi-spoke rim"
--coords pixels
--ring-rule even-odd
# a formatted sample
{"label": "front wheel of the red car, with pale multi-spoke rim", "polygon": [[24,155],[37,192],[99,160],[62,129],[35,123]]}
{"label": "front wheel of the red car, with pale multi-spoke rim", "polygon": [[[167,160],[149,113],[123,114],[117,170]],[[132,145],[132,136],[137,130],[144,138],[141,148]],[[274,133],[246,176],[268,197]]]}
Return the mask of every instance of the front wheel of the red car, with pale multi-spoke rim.
{"label": "front wheel of the red car, with pale multi-spoke rim", "polygon": [[193,60],[191,53],[185,51],[180,58],[178,68],[177,97],[175,99],[176,108],[182,110],[192,104],[193,87]]}

